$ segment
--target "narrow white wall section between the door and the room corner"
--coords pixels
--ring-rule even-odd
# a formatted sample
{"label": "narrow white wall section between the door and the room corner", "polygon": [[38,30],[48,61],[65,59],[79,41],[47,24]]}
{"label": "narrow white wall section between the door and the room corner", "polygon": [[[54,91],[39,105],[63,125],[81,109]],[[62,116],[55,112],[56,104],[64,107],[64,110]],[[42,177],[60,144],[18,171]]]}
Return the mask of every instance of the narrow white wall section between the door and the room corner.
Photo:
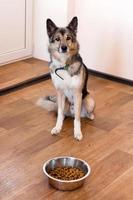
{"label": "narrow white wall section between the door and the room corner", "polygon": [[67,0],[34,1],[34,57],[49,60],[46,19],[51,18],[57,25],[64,26],[67,12]]}

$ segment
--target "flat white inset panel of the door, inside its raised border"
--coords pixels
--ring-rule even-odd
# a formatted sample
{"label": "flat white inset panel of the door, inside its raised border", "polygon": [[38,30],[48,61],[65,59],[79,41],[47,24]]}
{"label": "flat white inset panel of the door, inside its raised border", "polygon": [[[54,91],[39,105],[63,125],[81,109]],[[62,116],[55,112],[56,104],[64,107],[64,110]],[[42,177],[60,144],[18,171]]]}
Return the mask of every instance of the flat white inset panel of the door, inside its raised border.
{"label": "flat white inset panel of the door, inside its raised border", "polygon": [[25,48],[25,0],[0,1],[0,54]]}

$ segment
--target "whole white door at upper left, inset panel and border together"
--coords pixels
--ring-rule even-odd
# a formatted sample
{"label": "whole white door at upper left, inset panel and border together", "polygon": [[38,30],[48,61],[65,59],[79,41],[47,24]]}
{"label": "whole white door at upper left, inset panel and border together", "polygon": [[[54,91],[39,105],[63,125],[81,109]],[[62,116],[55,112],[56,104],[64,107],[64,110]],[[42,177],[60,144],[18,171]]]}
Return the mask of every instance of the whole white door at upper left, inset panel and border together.
{"label": "whole white door at upper left, inset panel and border together", "polygon": [[32,0],[0,0],[0,64],[32,55]]}

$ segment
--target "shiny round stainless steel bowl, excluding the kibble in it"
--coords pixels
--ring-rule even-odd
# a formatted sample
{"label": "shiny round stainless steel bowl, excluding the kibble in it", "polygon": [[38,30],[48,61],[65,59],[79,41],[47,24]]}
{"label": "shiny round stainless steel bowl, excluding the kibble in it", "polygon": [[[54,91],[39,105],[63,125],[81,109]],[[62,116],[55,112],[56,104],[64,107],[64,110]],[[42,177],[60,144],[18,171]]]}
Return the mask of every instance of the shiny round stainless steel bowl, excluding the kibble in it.
{"label": "shiny round stainless steel bowl, excluding the kibble in it", "polygon": [[[82,178],[76,180],[59,180],[53,178],[48,173],[50,170],[53,170],[56,167],[77,167],[81,169],[85,175]],[[52,185],[54,188],[58,190],[74,190],[83,185],[85,179],[90,174],[90,166],[84,160],[79,158],[63,156],[56,157],[45,162],[43,165],[43,171],[44,174],[48,177],[50,185]]]}

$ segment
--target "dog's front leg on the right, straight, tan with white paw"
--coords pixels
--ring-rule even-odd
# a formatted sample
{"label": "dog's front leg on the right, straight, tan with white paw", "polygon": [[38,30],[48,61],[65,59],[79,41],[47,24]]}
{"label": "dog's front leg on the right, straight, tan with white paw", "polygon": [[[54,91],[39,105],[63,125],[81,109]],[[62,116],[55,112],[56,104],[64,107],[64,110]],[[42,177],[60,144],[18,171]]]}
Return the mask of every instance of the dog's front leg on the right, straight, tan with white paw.
{"label": "dog's front leg on the right, straight, tan with white paw", "polygon": [[82,140],[83,138],[81,132],[81,123],[80,123],[81,104],[82,104],[82,93],[78,91],[75,93],[75,101],[74,101],[74,110],[75,110],[74,137],[77,140]]}

